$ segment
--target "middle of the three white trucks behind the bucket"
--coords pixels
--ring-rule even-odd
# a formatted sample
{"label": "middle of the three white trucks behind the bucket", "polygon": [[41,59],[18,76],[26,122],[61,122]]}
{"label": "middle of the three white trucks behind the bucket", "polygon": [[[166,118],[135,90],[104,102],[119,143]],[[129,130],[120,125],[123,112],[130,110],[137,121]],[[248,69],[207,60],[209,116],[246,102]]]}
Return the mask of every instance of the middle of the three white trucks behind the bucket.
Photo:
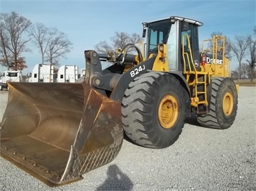
{"label": "middle of the three white trucks behind the bucket", "polygon": [[49,64],[38,63],[32,69],[32,72],[27,74],[28,82],[53,82],[54,66]]}

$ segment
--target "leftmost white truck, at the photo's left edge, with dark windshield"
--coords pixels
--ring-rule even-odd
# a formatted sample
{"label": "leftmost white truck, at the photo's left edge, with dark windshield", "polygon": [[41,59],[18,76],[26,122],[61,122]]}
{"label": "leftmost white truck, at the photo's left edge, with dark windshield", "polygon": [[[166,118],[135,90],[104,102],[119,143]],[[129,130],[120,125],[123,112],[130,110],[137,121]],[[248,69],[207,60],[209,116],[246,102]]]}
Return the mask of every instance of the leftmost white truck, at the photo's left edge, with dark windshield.
{"label": "leftmost white truck, at the photo's left edge, with dark windshield", "polygon": [[20,82],[22,79],[22,72],[20,71],[4,71],[2,74],[2,77],[0,78],[0,90],[2,91],[3,89],[8,90],[8,81],[17,81]]}

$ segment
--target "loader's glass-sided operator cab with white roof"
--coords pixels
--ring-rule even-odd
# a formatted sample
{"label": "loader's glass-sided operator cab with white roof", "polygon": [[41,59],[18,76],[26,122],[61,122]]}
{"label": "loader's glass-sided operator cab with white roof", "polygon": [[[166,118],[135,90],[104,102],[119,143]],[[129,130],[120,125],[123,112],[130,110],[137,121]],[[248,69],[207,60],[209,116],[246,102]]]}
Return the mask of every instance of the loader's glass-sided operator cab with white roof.
{"label": "loader's glass-sided operator cab with white roof", "polygon": [[192,64],[200,69],[198,27],[203,23],[182,17],[169,17],[142,25],[142,36],[147,39],[144,47],[146,58],[157,53],[158,44],[166,44],[170,71],[188,70],[194,68],[189,67]]}

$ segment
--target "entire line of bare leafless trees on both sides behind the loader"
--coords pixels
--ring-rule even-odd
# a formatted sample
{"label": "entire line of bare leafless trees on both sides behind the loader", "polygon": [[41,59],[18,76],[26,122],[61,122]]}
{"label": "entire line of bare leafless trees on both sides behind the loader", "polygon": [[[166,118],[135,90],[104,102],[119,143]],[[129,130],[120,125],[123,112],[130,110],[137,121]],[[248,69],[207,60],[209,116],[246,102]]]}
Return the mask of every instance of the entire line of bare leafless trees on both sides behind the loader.
{"label": "entire line of bare leafless trees on both sides behind the loader", "polygon": [[[231,71],[231,77],[238,80],[251,78],[252,81],[252,78],[255,78],[256,27],[252,34],[236,35],[233,40],[222,35],[221,32],[213,32],[211,37],[213,35],[225,37],[225,57],[230,60],[236,57],[239,62],[239,66]],[[43,23],[31,23],[16,12],[0,13],[0,64],[13,70],[26,68],[26,60],[22,53],[31,51],[31,48],[27,47],[29,41],[38,48],[41,63],[46,60],[52,65],[58,65],[59,59],[66,57],[73,45],[67,35],[56,28],[49,28]],[[115,35],[110,37],[110,41],[111,44],[106,40],[100,41],[94,47],[95,50],[106,53],[108,50],[123,49],[127,44],[139,43],[142,37],[135,33],[115,32]]]}

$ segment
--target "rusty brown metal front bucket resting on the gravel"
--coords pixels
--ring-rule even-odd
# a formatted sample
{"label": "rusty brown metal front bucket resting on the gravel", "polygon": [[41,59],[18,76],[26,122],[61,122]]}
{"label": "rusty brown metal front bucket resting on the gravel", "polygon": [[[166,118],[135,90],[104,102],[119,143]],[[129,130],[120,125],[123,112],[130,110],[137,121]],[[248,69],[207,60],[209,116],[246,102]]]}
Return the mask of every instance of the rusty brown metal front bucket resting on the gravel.
{"label": "rusty brown metal front bucket resting on the gravel", "polygon": [[121,104],[87,83],[9,83],[1,156],[48,184],[81,179],[117,156]]}

